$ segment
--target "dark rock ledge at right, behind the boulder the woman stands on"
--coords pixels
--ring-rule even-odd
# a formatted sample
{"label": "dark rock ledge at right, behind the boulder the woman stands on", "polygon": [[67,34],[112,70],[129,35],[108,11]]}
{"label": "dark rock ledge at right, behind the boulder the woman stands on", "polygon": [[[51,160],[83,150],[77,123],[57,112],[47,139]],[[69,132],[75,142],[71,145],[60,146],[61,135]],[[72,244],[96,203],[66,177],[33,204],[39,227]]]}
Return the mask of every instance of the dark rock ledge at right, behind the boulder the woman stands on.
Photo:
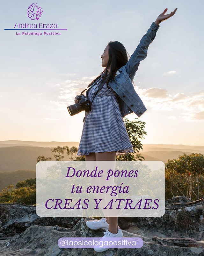
{"label": "dark rock ledge at right, behind the boulder the woman stands on", "polygon": [[190,237],[204,239],[204,197],[191,201],[185,196],[166,200],[165,214],[161,217],[119,218],[119,226],[142,236]]}

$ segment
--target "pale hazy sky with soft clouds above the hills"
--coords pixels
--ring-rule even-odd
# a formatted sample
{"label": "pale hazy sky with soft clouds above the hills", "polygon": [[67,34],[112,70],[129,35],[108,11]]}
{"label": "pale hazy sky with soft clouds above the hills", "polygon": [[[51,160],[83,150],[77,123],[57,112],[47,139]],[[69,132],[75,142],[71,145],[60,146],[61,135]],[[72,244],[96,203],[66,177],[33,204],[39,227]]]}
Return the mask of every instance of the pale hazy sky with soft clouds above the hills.
{"label": "pale hazy sky with soft clouds above the hills", "polygon": [[[203,1],[39,0],[38,21],[27,17],[32,3],[1,4],[0,140],[79,141],[84,111],[70,116],[67,106],[102,71],[107,43],[117,40],[131,55],[158,15],[177,7],[160,23],[134,78],[147,108],[139,118],[146,122],[142,143],[204,145]],[[4,30],[39,22],[67,30]]]}

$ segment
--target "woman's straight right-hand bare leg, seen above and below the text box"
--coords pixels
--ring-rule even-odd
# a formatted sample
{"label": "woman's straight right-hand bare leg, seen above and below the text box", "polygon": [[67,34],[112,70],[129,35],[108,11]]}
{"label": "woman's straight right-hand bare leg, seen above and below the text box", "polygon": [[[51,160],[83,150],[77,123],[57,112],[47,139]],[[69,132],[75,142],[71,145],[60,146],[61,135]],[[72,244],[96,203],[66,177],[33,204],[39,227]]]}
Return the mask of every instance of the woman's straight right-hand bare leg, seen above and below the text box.
{"label": "woman's straight right-hand bare leg, seen above and below the text box", "polygon": [[[116,151],[95,153],[96,161],[115,161]],[[118,217],[106,217],[109,224],[108,231],[113,234],[118,233]]]}

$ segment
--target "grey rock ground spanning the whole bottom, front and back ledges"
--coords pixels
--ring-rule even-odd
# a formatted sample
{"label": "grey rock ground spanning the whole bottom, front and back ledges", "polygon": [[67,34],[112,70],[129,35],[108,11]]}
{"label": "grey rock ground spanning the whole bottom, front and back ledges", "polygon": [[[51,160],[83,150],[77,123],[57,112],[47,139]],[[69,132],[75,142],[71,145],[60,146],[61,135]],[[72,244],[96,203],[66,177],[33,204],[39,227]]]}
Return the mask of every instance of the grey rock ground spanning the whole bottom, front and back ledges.
{"label": "grey rock ground spanning the whole bottom, front and back ledges", "polygon": [[[124,237],[141,237],[139,249],[109,249],[101,255],[204,256],[204,197],[166,200],[162,217],[119,218]],[[61,237],[101,237],[103,229],[92,230],[86,217],[39,217],[34,206],[0,204],[0,255],[97,255],[93,249],[62,249]],[[27,224],[27,225],[25,225]]]}

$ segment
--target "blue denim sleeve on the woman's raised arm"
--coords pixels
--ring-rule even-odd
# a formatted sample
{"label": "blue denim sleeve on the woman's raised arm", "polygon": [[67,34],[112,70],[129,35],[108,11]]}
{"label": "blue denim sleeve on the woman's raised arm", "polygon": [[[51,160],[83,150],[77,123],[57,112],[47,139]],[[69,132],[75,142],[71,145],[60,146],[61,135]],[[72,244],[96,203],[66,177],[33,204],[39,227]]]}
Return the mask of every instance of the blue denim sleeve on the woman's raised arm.
{"label": "blue denim sleeve on the woman's raised arm", "polygon": [[126,71],[130,77],[135,75],[140,61],[144,60],[147,57],[148,46],[154,40],[159,27],[160,26],[157,25],[155,22],[152,22],[150,28],[147,30],[147,33],[142,36],[140,43],[138,44],[133,54],[130,56],[127,64],[125,65]]}

